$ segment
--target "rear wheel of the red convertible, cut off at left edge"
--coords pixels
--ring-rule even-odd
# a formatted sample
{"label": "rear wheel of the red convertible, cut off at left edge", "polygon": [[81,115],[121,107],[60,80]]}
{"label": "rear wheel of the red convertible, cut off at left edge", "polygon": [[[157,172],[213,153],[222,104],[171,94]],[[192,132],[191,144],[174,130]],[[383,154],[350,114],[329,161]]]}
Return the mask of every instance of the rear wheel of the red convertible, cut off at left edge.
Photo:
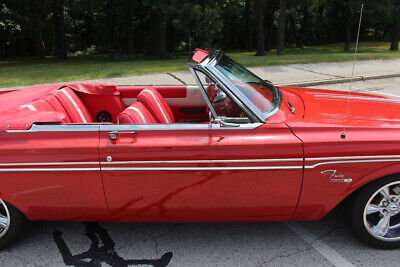
{"label": "rear wheel of the red convertible, cut off at left edge", "polygon": [[18,239],[25,222],[25,216],[17,208],[0,199],[0,250]]}

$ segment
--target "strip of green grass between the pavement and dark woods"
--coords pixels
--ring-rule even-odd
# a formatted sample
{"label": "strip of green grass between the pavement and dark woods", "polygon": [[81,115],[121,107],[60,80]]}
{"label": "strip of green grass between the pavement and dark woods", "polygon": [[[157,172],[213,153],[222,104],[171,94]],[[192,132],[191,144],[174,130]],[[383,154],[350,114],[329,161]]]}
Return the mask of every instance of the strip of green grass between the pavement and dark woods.
{"label": "strip of green grass between the pavement and dark woods", "polygon": [[[400,58],[400,51],[388,50],[389,43],[361,43],[357,59]],[[338,62],[353,59],[353,53],[343,52],[342,44],[309,46],[303,49],[288,48],[284,56],[275,51],[264,57],[255,57],[254,52],[228,51],[227,54],[245,66],[273,66],[301,63]],[[65,61],[55,59],[10,59],[0,60],[0,87],[32,85],[111,78],[147,73],[173,72],[187,69],[187,57],[173,54],[165,60],[148,59],[135,55],[115,61],[108,57],[71,57]]]}

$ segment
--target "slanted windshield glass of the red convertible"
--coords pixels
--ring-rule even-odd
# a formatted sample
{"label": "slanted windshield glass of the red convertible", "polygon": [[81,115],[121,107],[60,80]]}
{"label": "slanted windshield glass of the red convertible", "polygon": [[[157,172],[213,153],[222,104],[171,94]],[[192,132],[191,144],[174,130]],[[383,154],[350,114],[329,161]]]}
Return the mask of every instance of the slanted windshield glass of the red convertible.
{"label": "slanted windshield glass of the red convertible", "polygon": [[224,74],[262,113],[279,104],[276,88],[257,77],[227,56],[222,56],[216,68]]}

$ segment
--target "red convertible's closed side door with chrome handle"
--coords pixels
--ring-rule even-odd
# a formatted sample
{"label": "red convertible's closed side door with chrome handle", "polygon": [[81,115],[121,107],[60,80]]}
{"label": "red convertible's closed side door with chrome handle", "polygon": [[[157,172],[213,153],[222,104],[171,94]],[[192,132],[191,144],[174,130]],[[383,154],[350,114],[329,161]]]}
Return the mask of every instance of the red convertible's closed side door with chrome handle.
{"label": "red convertible's closed side door with chrome handle", "polygon": [[102,125],[100,164],[118,220],[286,219],[302,144],[285,124]]}

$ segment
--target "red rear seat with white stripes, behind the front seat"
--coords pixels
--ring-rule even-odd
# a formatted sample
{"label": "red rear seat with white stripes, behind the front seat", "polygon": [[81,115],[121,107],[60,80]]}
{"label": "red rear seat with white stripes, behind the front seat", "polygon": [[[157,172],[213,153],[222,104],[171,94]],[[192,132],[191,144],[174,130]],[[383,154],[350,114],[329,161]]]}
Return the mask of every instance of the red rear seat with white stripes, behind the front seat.
{"label": "red rear seat with white stripes, behind the front seat", "polygon": [[65,114],[65,123],[91,123],[94,122],[85,104],[78,95],[69,88],[57,90],[43,98],[22,105],[20,109],[32,111],[56,111]]}

